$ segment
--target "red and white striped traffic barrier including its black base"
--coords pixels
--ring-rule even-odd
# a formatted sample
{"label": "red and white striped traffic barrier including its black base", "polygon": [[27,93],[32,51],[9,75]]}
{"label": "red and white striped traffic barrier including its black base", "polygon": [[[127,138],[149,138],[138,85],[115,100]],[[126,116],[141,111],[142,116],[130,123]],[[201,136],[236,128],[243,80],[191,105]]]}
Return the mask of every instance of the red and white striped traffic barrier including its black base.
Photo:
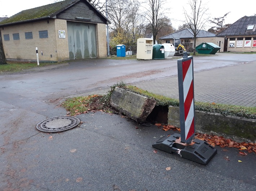
{"label": "red and white striped traffic barrier including its black base", "polygon": [[194,70],[193,56],[183,53],[178,59],[178,87],[180,98],[180,134],[164,136],[152,146],[167,153],[177,153],[182,158],[206,165],[217,149],[205,141],[193,139],[195,134]]}

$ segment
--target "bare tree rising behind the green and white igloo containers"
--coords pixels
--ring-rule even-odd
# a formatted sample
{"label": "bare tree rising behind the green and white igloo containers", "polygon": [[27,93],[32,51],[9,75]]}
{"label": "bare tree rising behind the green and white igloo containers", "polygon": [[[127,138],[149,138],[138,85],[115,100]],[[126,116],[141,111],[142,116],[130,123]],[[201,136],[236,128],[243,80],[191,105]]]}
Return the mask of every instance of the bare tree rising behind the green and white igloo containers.
{"label": "bare tree rising behind the green and white igloo containers", "polygon": [[[150,30],[153,34],[153,42],[155,44],[156,36],[159,31],[165,26],[168,25],[169,19],[164,16],[163,9],[165,0],[147,0],[144,2],[145,13],[143,17],[146,18],[147,23],[150,26]],[[148,28],[149,29],[149,28]]]}

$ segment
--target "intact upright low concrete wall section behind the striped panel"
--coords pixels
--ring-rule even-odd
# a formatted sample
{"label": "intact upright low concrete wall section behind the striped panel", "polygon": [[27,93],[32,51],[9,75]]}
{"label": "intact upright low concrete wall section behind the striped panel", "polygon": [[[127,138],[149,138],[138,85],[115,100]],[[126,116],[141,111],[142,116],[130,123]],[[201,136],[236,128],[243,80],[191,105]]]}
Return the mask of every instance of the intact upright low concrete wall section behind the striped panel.
{"label": "intact upright low concrete wall section behind the striped panel", "polygon": [[[180,127],[180,108],[169,106],[168,124]],[[256,120],[195,111],[195,129],[235,141],[256,142]]]}

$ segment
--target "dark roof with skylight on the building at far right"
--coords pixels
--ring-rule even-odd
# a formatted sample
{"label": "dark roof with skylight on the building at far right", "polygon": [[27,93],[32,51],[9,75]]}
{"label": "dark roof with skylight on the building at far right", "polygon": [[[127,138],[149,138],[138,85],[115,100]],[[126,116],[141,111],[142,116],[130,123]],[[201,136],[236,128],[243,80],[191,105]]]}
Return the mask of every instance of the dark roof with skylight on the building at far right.
{"label": "dark roof with skylight on the building at far right", "polygon": [[[254,25],[252,29],[247,29],[248,25]],[[224,31],[217,34],[217,36],[247,36],[256,35],[256,16],[244,16],[231,24]]]}

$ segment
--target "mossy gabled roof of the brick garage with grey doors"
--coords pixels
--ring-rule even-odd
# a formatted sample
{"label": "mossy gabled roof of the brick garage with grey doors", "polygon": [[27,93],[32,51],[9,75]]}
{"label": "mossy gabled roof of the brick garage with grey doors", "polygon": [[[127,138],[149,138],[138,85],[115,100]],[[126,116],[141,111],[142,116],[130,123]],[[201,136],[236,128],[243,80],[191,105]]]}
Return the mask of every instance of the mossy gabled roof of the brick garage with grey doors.
{"label": "mossy gabled roof of the brick garage with grey doors", "polygon": [[[79,1],[86,1],[88,4],[90,4],[98,13],[98,11],[91,3],[88,2],[88,0],[64,0],[59,1],[57,3],[52,3],[32,9],[23,10],[12,17],[9,17],[2,22],[0,22],[1,25],[13,25],[13,24],[20,24],[20,23],[26,23],[31,22],[35,20],[43,20],[43,19],[49,19],[49,18],[56,18],[56,15],[58,13],[61,13],[63,10],[69,8],[70,6],[78,3]],[[107,24],[109,24],[109,20],[100,13],[102,17],[104,17],[107,21]]]}

